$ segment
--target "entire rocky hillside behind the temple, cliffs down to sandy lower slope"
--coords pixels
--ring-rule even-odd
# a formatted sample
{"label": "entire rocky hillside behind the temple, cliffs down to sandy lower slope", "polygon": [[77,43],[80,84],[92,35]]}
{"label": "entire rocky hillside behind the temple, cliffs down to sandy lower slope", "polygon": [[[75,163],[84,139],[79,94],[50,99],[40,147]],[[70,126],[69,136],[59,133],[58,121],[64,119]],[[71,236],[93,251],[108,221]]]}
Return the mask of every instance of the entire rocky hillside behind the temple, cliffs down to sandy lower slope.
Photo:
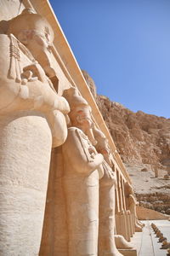
{"label": "entire rocky hillside behind the temple, cliffs down to sandy lower slope", "polygon": [[[96,93],[94,80],[82,72],[132,178],[139,201],[170,213],[170,119],[133,111]],[[153,202],[151,202],[153,201]],[[168,201],[168,202],[167,202]]]}

